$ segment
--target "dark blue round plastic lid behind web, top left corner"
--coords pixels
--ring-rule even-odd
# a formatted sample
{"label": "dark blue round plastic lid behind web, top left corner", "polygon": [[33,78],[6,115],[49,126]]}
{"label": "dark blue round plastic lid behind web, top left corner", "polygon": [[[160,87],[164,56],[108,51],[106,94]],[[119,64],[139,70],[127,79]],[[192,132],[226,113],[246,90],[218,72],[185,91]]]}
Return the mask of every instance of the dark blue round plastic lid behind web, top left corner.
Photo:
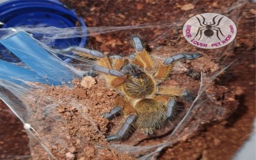
{"label": "dark blue round plastic lid behind web, top left corner", "polygon": [[[12,28],[18,26],[33,25],[38,27],[54,26],[56,28],[76,27],[77,22],[80,26],[85,26],[83,19],[77,17],[73,10],[68,10],[56,0],[10,0],[0,3],[0,22],[4,24],[0,28]],[[1,34],[1,33],[0,33]],[[37,40],[42,39],[42,34],[33,34]],[[84,47],[86,37],[84,38],[66,38],[49,42],[49,47],[58,49],[67,48],[74,45]],[[10,62],[19,62],[19,58],[6,50],[0,44],[0,59]],[[71,59],[61,57],[68,62]]]}

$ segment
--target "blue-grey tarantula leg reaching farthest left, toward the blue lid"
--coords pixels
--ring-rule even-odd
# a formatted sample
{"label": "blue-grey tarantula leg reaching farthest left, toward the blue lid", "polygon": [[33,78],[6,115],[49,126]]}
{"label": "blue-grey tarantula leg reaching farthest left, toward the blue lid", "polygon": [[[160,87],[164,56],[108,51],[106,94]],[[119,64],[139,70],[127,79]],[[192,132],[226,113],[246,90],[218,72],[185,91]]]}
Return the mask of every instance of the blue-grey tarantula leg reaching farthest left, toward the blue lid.
{"label": "blue-grey tarantula leg reaching farthest left, toward the blue lid", "polygon": [[67,49],[56,49],[57,52],[68,53],[74,52],[83,58],[103,58],[104,54],[99,51],[94,51],[91,49],[86,49],[83,47],[68,47]]}

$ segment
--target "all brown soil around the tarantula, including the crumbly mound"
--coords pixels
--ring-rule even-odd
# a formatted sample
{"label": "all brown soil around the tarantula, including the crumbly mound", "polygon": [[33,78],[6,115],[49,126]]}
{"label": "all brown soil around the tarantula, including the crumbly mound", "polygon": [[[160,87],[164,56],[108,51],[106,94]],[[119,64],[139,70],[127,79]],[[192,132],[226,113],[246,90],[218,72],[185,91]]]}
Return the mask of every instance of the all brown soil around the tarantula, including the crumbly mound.
{"label": "all brown soil around the tarantula, including the crumbly mound", "polygon": [[[63,1],[68,7],[75,8],[90,27],[127,26],[161,20],[173,22],[173,19],[176,19],[173,15],[180,15],[178,21],[185,22],[188,15],[204,12],[224,13],[236,2],[160,1],[154,3],[148,0],[145,2],[116,1],[113,5],[113,1]],[[230,15],[230,18],[239,17],[236,19],[236,24],[238,24],[236,44],[230,44],[231,47],[229,45],[221,50],[206,51],[188,45],[188,42],[181,36],[181,28],[137,29],[131,32],[123,31],[90,37],[88,46],[93,46],[94,49],[104,51],[106,54],[120,54],[120,52],[122,55],[129,54],[132,50],[129,46],[129,39],[126,38],[134,33],[141,35],[145,42],[148,42],[147,48],[150,53],[160,58],[177,52],[202,52],[204,56],[201,59],[182,61],[178,64],[182,66],[181,68],[187,69],[176,71],[171,80],[166,81],[166,84],[184,87],[194,93],[200,86],[198,76],[193,76],[198,75],[195,73],[202,71],[205,78],[211,77],[220,72],[221,68],[236,60],[205,90],[204,96],[208,100],[204,104],[210,108],[195,110],[196,116],[194,117],[196,118],[191,118],[190,123],[186,125],[188,127],[185,127],[187,129],[182,130],[182,134],[177,134],[177,140],[175,140],[177,143],[162,150],[157,156],[158,159],[231,159],[244,140],[250,136],[255,119],[256,12],[255,3],[239,2],[243,4],[237,4],[240,8],[235,10],[236,14],[234,10],[225,13],[225,15]],[[170,13],[170,8],[172,8],[172,13]],[[186,16],[182,17],[182,15]],[[118,122],[122,122],[124,118],[120,116],[111,123],[102,118],[102,113],[111,109],[116,96],[113,90],[105,87],[104,81],[99,78],[95,79],[95,84],[90,89],[84,88],[79,81],[75,81],[74,88],[42,86],[42,90],[35,92],[45,95],[38,95],[38,99],[44,102],[42,106],[47,105],[46,110],[31,106],[34,109],[31,124],[36,126],[35,129],[42,136],[45,146],[59,159],[73,159],[74,156],[80,159],[130,159],[131,157],[127,154],[116,152],[113,144],[138,147],[170,141],[168,136],[159,137],[159,135],[164,133],[169,135],[189,108],[189,103],[180,102],[179,114],[156,134],[148,138],[136,131],[129,140],[112,143],[111,148],[104,140],[103,134],[115,132],[122,124]],[[49,96],[51,99],[45,99]],[[31,100],[35,97],[36,94]],[[38,102],[40,101],[31,101],[30,104],[38,104]],[[51,104],[56,105],[51,106]],[[6,106],[1,105],[0,118],[1,158],[23,156],[24,159],[31,159],[28,146],[25,145],[28,143],[28,138],[22,130],[22,125]],[[45,120],[47,123],[44,123]],[[191,132],[191,129],[196,129],[196,131]],[[35,139],[31,139],[30,146],[34,159],[49,156]],[[122,148],[119,149],[122,150]],[[131,150],[125,151],[131,152]],[[141,156],[136,152],[132,155]]]}

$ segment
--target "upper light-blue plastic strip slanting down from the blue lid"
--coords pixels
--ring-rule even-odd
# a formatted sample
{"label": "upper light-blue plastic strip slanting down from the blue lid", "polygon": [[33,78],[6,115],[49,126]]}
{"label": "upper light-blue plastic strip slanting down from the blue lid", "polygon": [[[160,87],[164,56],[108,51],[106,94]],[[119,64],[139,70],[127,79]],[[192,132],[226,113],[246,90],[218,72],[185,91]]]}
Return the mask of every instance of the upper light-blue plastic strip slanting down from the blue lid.
{"label": "upper light-blue plastic strip slanting down from the blue lid", "polygon": [[[47,78],[49,84],[61,85],[63,82],[72,81],[76,76],[61,60],[49,54],[31,36],[24,31],[19,31],[2,40],[0,43],[31,67],[42,78]],[[24,71],[24,70],[23,70]],[[19,71],[13,72],[17,74]],[[30,76],[32,72],[27,72]],[[10,72],[10,76],[12,72]],[[35,81],[37,77],[35,76]]]}

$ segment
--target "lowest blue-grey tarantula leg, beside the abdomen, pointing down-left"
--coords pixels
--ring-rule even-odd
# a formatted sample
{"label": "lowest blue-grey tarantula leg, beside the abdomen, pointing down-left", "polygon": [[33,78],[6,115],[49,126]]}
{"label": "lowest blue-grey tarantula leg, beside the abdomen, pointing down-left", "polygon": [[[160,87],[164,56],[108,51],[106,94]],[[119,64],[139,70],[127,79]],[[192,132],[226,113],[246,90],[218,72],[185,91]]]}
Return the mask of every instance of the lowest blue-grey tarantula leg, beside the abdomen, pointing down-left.
{"label": "lowest blue-grey tarantula leg, beside the abdomen, pointing down-left", "polygon": [[131,130],[132,124],[135,122],[137,115],[129,115],[122,128],[115,134],[106,136],[107,141],[115,141],[115,140],[122,140],[127,136],[128,132]]}

